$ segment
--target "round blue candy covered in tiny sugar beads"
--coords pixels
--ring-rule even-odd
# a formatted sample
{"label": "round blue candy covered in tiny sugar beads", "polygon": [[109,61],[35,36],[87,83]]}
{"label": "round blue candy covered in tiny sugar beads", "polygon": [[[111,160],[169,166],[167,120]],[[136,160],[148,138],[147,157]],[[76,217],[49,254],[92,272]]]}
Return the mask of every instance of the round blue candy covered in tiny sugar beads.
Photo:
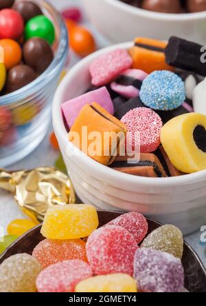
{"label": "round blue candy covered in tiny sugar beads", "polygon": [[174,110],[185,101],[185,85],[173,72],[155,71],[143,81],[139,96],[148,108]]}

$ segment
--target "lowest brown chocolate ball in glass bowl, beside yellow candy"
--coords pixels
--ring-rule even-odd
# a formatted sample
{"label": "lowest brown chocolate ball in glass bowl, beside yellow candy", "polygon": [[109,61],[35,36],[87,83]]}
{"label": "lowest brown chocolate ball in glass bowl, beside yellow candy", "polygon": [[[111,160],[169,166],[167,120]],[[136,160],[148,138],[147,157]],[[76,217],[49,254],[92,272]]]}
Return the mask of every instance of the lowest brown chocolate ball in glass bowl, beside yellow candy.
{"label": "lowest brown chocolate ball in glass bowl, beside yellow candy", "polygon": [[36,79],[36,72],[27,65],[16,65],[9,70],[5,83],[6,92],[14,92]]}

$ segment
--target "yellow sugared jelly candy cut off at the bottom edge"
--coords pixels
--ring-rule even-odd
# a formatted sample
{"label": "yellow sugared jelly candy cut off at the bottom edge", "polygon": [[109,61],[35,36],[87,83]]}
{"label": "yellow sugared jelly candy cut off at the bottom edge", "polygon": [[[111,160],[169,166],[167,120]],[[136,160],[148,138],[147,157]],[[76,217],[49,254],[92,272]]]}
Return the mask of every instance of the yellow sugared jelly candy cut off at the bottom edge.
{"label": "yellow sugared jelly candy cut off at the bottom edge", "polygon": [[108,274],[81,281],[75,292],[137,292],[137,285],[128,274]]}

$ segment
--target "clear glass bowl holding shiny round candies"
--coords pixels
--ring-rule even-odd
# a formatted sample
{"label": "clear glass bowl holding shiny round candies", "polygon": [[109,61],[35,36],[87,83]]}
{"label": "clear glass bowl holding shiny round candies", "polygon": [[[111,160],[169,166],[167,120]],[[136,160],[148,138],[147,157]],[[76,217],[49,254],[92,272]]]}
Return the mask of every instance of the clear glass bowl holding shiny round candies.
{"label": "clear glass bowl holding shiny round candies", "polygon": [[33,0],[33,2],[37,3],[54,23],[55,55],[47,70],[32,83],[20,90],[0,96],[0,112],[6,110],[11,116],[9,126],[0,129],[0,167],[6,167],[23,159],[43,141],[52,119],[51,106],[54,92],[67,60],[67,29],[61,15],[45,1]]}

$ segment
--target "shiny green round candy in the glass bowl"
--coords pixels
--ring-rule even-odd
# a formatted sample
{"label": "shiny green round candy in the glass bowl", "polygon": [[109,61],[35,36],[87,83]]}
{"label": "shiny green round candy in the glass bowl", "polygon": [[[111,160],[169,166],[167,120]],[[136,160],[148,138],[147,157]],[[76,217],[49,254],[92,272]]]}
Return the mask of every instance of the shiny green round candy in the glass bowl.
{"label": "shiny green round candy in the glass bowl", "polygon": [[55,29],[52,21],[44,15],[30,19],[25,26],[25,39],[28,40],[32,37],[41,37],[52,45],[55,40]]}

